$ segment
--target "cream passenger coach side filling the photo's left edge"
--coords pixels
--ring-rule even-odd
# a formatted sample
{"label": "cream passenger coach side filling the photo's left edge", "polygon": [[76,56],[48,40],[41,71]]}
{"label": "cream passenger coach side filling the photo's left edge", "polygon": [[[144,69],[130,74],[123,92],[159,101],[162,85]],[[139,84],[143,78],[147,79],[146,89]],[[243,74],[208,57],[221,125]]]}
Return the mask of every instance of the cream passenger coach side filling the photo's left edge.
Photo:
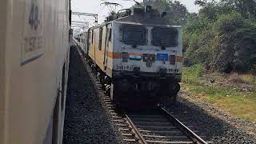
{"label": "cream passenger coach side filling the photo's left edge", "polygon": [[0,143],[62,143],[70,0],[1,0]]}

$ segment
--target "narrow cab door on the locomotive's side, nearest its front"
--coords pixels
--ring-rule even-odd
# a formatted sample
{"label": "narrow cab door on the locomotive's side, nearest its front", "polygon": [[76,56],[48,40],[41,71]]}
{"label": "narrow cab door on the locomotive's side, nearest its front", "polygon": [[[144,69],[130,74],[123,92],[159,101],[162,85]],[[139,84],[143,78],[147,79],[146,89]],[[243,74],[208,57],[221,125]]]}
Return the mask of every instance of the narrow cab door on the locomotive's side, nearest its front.
{"label": "narrow cab door on the locomotive's side, nearest its front", "polygon": [[109,47],[111,42],[111,24],[106,25],[106,37],[105,37],[105,52],[104,52],[104,70],[106,70],[107,67],[107,60],[109,56]]}

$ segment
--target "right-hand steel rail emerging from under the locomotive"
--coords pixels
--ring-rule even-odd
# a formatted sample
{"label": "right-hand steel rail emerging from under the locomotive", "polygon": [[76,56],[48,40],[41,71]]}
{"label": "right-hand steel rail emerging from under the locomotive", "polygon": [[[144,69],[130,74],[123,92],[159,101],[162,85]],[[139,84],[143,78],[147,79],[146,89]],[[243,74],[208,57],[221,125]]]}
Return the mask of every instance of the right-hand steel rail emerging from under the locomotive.
{"label": "right-hand steel rail emerging from under the locomotive", "polygon": [[170,119],[174,124],[178,126],[187,136],[189,136],[195,143],[198,144],[207,144],[206,141],[204,141],[202,138],[198,136],[198,134],[195,134],[192,130],[190,130],[187,126],[185,126],[182,122],[178,120],[178,118],[175,118],[172,114],[170,114],[166,109],[164,109],[162,106],[158,105],[159,109],[162,110],[162,113],[165,114],[166,118]]}

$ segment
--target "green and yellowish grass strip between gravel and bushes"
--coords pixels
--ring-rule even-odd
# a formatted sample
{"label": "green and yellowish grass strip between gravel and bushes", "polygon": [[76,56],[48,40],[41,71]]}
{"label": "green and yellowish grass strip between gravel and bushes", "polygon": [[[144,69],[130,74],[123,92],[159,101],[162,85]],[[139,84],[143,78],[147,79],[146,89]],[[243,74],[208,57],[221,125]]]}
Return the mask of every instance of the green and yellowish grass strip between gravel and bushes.
{"label": "green and yellowish grass strip between gravel and bushes", "polygon": [[184,67],[182,90],[235,117],[256,122],[256,78],[253,75],[210,73],[203,65]]}

